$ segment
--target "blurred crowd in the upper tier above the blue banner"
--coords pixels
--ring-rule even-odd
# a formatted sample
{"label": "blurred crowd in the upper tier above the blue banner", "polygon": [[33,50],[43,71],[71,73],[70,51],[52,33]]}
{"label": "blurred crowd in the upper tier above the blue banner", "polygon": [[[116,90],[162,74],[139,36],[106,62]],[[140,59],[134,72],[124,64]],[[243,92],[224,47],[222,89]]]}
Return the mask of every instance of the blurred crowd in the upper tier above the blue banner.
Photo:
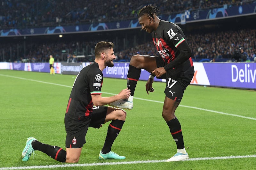
{"label": "blurred crowd in the upper tier above the blue banner", "polygon": [[[223,4],[243,4],[247,0],[159,0],[153,5],[158,15],[185,10],[207,9]],[[148,0],[2,0],[0,29],[21,29],[41,26],[78,25],[137,18]]]}

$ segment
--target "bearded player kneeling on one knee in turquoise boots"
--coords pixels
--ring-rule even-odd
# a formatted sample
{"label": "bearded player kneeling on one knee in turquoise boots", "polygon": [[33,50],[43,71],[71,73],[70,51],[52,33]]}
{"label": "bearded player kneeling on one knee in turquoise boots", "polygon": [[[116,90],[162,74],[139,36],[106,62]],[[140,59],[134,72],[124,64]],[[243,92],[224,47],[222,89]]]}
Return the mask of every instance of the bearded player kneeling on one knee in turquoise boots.
{"label": "bearded player kneeling on one knee in turquoise boots", "polygon": [[[128,88],[111,97],[101,96],[103,74],[107,66],[113,67],[114,44],[100,41],[95,46],[95,62],[84,67],[76,77],[65,114],[66,151],[58,146],[52,146],[28,137],[22,151],[22,160],[28,161],[32,152],[41,151],[51,158],[67,163],[78,162],[82,147],[85,144],[85,135],[89,127],[100,128],[102,124],[111,121],[108,126],[107,137],[100,151],[99,159],[125,159],[111,151],[112,144],[123,127],[126,112],[122,109],[103,106],[111,102],[127,99],[131,92]],[[94,107],[93,107],[94,105]]]}

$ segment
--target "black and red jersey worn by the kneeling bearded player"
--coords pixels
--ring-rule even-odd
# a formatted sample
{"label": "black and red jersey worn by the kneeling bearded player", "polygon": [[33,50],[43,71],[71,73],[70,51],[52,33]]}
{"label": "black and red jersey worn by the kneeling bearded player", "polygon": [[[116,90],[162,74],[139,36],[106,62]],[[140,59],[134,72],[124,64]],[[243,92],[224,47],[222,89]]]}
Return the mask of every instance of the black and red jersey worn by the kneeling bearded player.
{"label": "black and red jersey worn by the kneeling bearded player", "polygon": [[75,112],[82,112],[85,116],[90,115],[93,107],[91,95],[101,94],[102,83],[103,74],[99,69],[98,63],[91,63],[84,67],[76,76],[69,97],[69,100],[72,101],[68,106],[69,109],[75,110]]}

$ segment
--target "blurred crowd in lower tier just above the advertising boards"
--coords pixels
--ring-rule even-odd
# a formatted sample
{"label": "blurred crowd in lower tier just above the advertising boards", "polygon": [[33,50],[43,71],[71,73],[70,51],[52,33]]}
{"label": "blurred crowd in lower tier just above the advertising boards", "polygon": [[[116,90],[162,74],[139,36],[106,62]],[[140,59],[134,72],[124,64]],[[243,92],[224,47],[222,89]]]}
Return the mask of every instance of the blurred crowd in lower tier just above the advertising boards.
{"label": "blurred crowd in lower tier just above the advertising boards", "polygon": [[[249,59],[254,61],[256,54],[256,29],[240,29],[240,30],[228,30],[221,32],[211,33],[186,33],[189,46],[192,49],[194,61],[200,61],[202,59],[215,60],[215,61],[231,61],[235,54],[235,51],[239,47],[243,46],[244,51],[249,54]],[[239,35],[239,36],[237,36]],[[133,37],[127,37],[128,42],[132,42]],[[225,41],[220,41],[225,40]],[[58,57],[62,56],[62,50],[67,51],[69,54],[85,55],[86,61],[93,61],[94,51],[93,48],[97,41],[38,41],[28,43],[24,51],[24,46],[15,43],[0,43],[0,61],[12,61],[22,62],[32,60],[32,62],[47,62],[48,57],[46,55],[52,54]],[[115,42],[116,39],[110,39],[108,41]],[[153,55],[158,56],[158,53],[154,47],[154,43],[151,41],[145,42],[134,46],[132,43],[127,43],[126,49],[122,44],[122,38],[118,41],[119,48],[115,47],[115,54],[117,55],[116,61],[129,62],[132,55],[138,51],[140,55]],[[88,49],[86,53],[82,53],[83,49]],[[80,54],[81,53],[81,54]],[[65,53],[65,55],[67,55]],[[61,61],[61,59],[59,59]],[[66,61],[64,59],[63,61]],[[72,62],[72,60],[69,60]]]}

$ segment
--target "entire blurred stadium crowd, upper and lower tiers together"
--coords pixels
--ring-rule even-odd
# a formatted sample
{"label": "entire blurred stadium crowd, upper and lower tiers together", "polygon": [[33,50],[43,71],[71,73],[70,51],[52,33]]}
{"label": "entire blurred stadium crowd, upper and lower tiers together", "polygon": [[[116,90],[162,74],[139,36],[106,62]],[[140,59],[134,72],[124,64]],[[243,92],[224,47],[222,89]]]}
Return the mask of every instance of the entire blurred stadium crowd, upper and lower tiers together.
{"label": "entire blurred stadium crowd, upper and lower tiers together", "polygon": [[[153,5],[160,9],[158,15],[171,14],[185,10],[196,10],[223,6],[223,4],[247,3],[245,0],[159,0]],[[81,5],[84,4],[84,5]],[[75,25],[93,22],[114,21],[137,18],[138,10],[147,5],[147,0],[3,0],[0,4],[0,29],[30,28],[61,25]],[[65,9],[65,11],[63,11]],[[164,13],[161,13],[164,12]],[[5,17],[3,17],[5,16]],[[233,54],[239,47],[244,47],[249,55],[247,60],[253,61],[256,55],[256,29],[244,28],[210,33],[186,33],[186,38],[193,51],[194,61],[232,61]],[[239,35],[239,36],[238,36]],[[150,35],[148,35],[150,37]],[[132,42],[132,37],[127,41]],[[56,61],[63,61],[68,55],[79,55],[78,52],[86,49],[91,55],[94,54],[94,46],[97,40],[72,40],[72,41],[47,41],[27,43],[26,49],[23,44],[12,42],[1,43],[0,54],[6,56],[4,61],[22,62],[48,62],[52,54]],[[116,39],[108,39],[114,44]],[[121,42],[122,43],[122,42]],[[66,52],[63,53],[63,50]],[[10,54],[11,53],[11,54]],[[87,53],[87,54],[88,54]],[[115,49],[116,61],[129,61],[132,55],[154,55],[156,48],[152,41],[143,44],[130,43],[125,48]],[[10,57],[12,56],[12,57]],[[18,57],[17,56],[22,56]],[[2,60],[2,58],[0,59]],[[86,58],[92,61],[93,58]],[[79,61],[79,60],[77,60]]]}

